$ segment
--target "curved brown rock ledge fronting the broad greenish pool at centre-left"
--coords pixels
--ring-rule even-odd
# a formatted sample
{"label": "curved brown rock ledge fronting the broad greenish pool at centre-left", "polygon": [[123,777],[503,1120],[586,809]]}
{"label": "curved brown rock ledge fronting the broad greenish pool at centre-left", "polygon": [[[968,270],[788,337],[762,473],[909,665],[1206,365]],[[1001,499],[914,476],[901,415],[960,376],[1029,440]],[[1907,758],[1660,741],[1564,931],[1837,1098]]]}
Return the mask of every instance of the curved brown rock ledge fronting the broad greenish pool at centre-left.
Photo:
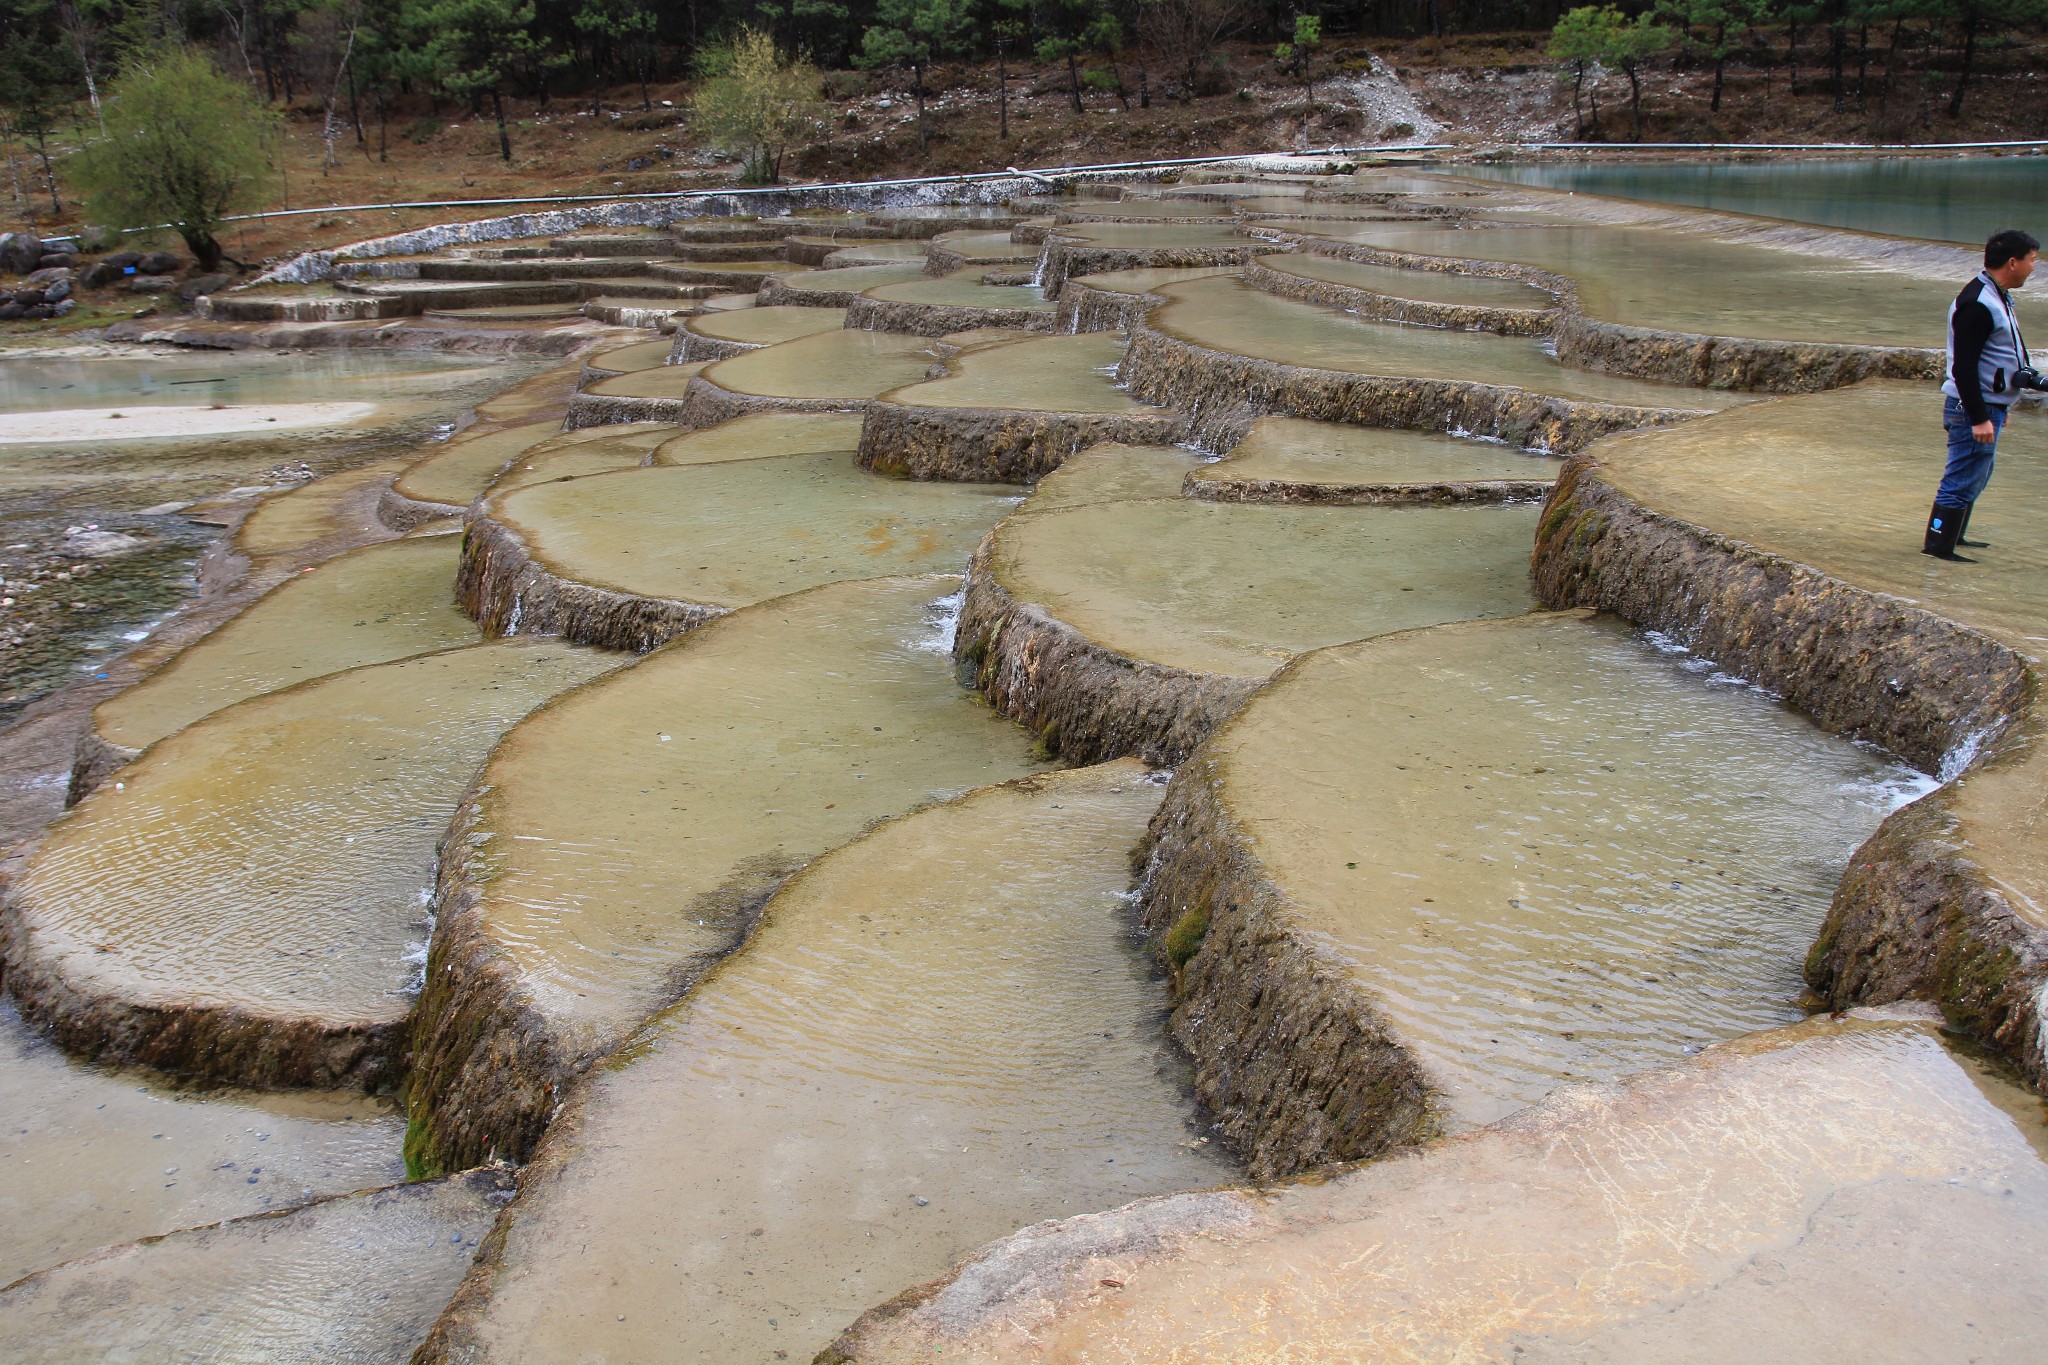
{"label": "curved brown rock ledge fronting the broad greenish pool at centre-left", "polygon": [[727,608],[639,598],[565,579],[539,563],[518,532],[492,520],[489,499],[471,508],[455,600],[485,634],[559,634],[575,645],[645,653]]}

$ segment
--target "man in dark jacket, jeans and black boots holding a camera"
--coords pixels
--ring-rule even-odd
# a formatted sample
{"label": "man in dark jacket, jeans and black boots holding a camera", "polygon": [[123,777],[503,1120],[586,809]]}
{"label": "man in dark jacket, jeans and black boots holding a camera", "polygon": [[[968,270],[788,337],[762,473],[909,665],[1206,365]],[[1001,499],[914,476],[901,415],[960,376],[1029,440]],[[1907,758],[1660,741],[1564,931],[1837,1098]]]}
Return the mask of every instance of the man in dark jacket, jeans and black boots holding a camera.
{"label": "man in dark jacket, jeans and black boots holding a camera", "polygon": [[1927,544],[1921,555],[1976,563],[1956,553],[1964,540],[1970,508],[1991,483],[1991,460],[2005,428],[2005,413],[2021,389],[2044,389],[2019,336],[2011,291],[2028,282],[2040,262],[2042,244],[2007,227],[1985,244],[1985,268],[1948,305],[1948,375],[1942,379],[1942,424],[1948,428],[1948,469],[1927,516]]}

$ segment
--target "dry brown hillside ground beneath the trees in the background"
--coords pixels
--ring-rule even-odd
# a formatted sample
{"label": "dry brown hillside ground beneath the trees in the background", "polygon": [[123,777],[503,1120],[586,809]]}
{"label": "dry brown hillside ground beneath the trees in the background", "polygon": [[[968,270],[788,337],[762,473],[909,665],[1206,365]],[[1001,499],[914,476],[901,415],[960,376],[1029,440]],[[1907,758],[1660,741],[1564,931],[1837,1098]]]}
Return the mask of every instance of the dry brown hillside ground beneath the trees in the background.
{"label": "dry brown hillside ground beneath the trees in the background", "polygon": [[[1874,37],[1874,43],[1878,37]],[[1571,135],[1571,92],[1542,55],[1544,35],[1470,35],[1450,41],[1346,43],[1327,53],[1327,76],[1360,74],[1372,55],[1391,63],[1430,117],[1446,125],[1446,141],[1473,149],[1503,139]],[[913,106],[901,82],[889,76],[834,74],[838,106],[831,135],[791,153],[786,170],[797,180],[838,180],[907,174],[958,174],[1004,166],[1059,166],[1169,156],[1214,156],[1284,149],[1296,145],[1364,143],[1389,133],[1372,111],[1331,100],[1303,121],[1296,88],[1276,84],[1264,49],[1229,49],[1231,80],[1217,96],[1190,102],[1153,94],[1137,98],[1139,70],[1122,65],[1130,108],[1100,90],[1085,92],[1087,113],[1075,115],[1063,68],[1012,72],[1012,135],[997,139],[995,70],[942,68],[932,72],[930,139],[920,149]],[[1800,94],[1788,90],[1782,41],[1772,70],[1731,68],[1722,111],[1708,111],[1710,74],[1659,65],[1645,78],[1645,137],[1696,141],[1964,141],[2048,135],[2038,49],[2009,47],[1987,53],[1987,70],[1972,88],[1964,117],[1948,119],[1946,84],[1919,72],[1901,72],[1884,88],[1882,49],[1872,53],[1864,98],[1853,92],[1843,111],[1825,84],[1821,53],[1802,53]],[[1853,80],[1853,53],[1851,53]],[[1149,74],[1157,90],[1159,72]],[[371,209],[346,205],[391,201],[506,199],[520,194],[627,194],[729,184],[733,166],[696,145],[688,129],[688,86],[657,86],[651,108],[641,108],[639,88],[606,94],[600,113],[590,98],[557,98],[541,108],[514,102],[512,149],[498,156],[489,117],[442,106],[438,119],[426,100],[401,104],[387,129],[365,123],[358,143],[346,129],[334,166],[324,166],[326,145],[317,111],[295,111],[283,143],[283,178],[274,209],[334,205],[264,223],[236,225],[229,252],[258,264],[291,252],[340,246],[387,231],[492,209]],[[664,106],[662,100],[670,104]],[[889,106],[883,106],[889,100]],[[1628,137],[1626,82],[1599,84],[1602,133]],[[383,149],[379,151],[379,143]],[[82,211],[68,205],[66,219]],[[43,231],[53,231],[43,221]]]}

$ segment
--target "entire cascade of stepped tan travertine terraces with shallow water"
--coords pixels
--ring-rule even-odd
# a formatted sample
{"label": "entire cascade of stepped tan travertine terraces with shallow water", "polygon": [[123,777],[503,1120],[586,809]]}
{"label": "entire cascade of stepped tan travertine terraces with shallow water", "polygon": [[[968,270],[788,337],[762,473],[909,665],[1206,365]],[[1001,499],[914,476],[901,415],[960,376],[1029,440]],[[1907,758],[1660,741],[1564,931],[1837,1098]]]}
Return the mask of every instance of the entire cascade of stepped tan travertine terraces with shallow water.
{"label": "entire cascade of stepped tan travertine terraces with shallow water", "polygon": [[1305,301],[1536,332],[1534,266],[1833,372],[1952,284],[1217,176],[678,219],[760,295],[645,233],[664,334],[262,503],[0,905],[0,1355],[2038,1338],[2042,417],[1958,579],[1925,385]]}

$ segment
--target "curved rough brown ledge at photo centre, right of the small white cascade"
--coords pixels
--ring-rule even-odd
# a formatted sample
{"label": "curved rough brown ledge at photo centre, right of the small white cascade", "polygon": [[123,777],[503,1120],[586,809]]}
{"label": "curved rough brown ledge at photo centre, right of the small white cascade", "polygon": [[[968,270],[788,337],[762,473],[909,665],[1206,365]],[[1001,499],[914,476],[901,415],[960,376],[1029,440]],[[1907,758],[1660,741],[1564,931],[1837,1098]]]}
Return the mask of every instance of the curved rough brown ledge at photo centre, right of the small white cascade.
{"label": "curved rough brown ledge at photo centre, right of the small white cascade", "polygon": [[952,657],[963,684],[1071,763],[1180,763],[1262,686],[1128,659],[1016,602],[997,579],[993,534],[969,565]]}

